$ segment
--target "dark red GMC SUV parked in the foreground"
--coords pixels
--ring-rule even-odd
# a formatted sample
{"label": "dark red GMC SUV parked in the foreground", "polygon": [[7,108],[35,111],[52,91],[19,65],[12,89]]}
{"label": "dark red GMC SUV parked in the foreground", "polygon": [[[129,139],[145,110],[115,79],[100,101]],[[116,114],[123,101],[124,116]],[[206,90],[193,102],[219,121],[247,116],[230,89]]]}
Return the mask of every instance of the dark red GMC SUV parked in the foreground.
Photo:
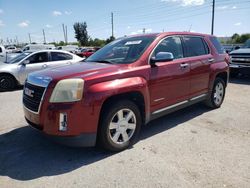
{"label": "dark red GMC SUV parked in the foreground", "polygon": [[113,41],[84,62],[29,74],[27,122],[71,146],[121,151],[149,121],[204,101],[223,102],[229,57],[211,35],[144,34]]}

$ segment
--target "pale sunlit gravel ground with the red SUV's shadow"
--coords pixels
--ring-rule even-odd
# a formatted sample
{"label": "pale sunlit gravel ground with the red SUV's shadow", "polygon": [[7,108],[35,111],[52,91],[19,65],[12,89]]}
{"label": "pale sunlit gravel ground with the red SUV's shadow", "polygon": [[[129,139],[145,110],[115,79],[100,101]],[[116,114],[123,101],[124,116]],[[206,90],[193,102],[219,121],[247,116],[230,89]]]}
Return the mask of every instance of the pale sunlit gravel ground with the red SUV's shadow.
{"label": "pale sunlit gravel ground with the red SUV's shadow", "polygon": [[250,187],[250,79],[224,104],[151,122],[120,153],[48,141],[23,118],[22,91],[0,93],[0,187]]}

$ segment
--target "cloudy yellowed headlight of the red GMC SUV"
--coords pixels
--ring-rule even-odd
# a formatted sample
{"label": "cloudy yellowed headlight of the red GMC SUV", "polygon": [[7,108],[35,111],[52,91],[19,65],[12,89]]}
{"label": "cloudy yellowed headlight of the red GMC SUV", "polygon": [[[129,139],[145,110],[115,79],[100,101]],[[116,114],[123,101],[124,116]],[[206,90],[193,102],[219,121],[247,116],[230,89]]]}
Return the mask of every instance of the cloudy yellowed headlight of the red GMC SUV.
{"label": "cloudy yellowed headlight of the red GMC SUV", "polygon": [[74,102],[82,99],[84,80],[65,79],[56,84],[50,97],[51,103]]}

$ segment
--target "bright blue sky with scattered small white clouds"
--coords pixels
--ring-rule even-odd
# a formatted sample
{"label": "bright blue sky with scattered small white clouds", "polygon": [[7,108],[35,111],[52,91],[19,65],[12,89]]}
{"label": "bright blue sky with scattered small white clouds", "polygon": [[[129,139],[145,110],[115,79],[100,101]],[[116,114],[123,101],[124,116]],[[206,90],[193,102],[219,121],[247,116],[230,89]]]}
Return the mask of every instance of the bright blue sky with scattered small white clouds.
{"label": "bright blue sky with scattered small white clouds", "polygon": [[[91,38],[163,31],[211,33],[212,0],[0,0],[0,42],[75,42],[73,24],[86,22]],[[214,35],[250,32],[250,0],[215,0]]]}

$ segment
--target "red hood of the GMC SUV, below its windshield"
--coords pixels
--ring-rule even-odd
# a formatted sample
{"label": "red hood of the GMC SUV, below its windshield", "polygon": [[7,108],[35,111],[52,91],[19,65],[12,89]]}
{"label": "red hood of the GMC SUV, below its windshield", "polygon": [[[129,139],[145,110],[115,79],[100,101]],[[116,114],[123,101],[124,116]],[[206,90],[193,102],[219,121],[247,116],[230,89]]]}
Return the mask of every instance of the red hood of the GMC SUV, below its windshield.
{"label": "red hood of the GMC SUV, below its windshield", "polygon": [[32,77],[50,77],[52,80],[61,80],[66,78],[83,78],[103,76],[114,73],[122,69],[124,65],[104,64],[95,62],[79,62],[72,65],[57,67],[31,73]]}

